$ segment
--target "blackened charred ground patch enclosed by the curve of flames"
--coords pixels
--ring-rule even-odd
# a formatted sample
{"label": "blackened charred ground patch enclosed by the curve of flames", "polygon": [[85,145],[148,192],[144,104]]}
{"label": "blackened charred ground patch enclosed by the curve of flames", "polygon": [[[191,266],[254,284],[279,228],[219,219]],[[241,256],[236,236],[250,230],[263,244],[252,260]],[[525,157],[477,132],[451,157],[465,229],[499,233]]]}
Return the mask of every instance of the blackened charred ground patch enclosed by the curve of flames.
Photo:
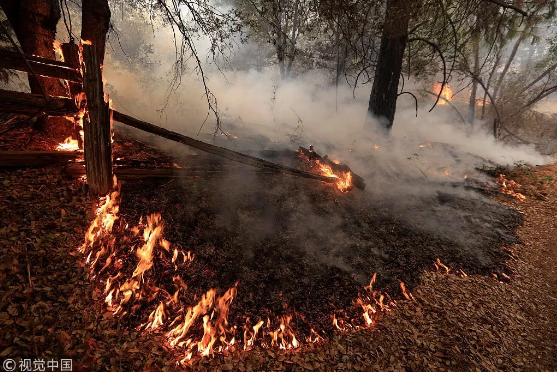
{"label": "blackened charred ground patch enclosed by the curve of flames", "polygon": [[[294,314],[301,334],[329,333],[332,314],[361,318],[353,303],[374,273],[374,288],[394,298],[402,297],[400,281],[412,290],[437,258],[468,274],[511,275],[501,247],[517,242],[520,214],[463,188],[428,188],[401,202],[373,190],[341,193],[315,181],[231,171],[124,183],[120,215],[133,223],[162,214],[166,239],[195,255],[180,272],[193,297],[238,282],[232,324]],[[154,274],[169,293],[172,272]]]}

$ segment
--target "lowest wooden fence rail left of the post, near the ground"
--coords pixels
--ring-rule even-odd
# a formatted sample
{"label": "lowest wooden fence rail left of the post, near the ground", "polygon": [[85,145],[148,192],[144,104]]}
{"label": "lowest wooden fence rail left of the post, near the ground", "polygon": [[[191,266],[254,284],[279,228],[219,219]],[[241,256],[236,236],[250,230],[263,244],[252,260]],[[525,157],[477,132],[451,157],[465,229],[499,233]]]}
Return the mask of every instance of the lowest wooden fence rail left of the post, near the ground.
{"label": "lowest wooden fence rail left of the post, near the ground", "polygon": [[83,158],[79,151],[0,151],[0,167],[38,167]]}

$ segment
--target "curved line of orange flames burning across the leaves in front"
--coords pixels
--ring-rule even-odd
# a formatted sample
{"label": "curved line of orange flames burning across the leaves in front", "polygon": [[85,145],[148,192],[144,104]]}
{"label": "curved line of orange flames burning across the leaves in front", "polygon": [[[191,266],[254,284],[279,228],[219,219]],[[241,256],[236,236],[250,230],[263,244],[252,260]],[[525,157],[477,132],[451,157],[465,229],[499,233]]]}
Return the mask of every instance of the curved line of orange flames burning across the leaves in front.
{"label": "curved line of orange flames burning across the leaves in front", "polygon": [[[107,309],[119,317],[135,314],[140,307],[153,309],[138,330],[164,332],[169,346],[183,350],[182,363],[187,363],[195,356],[248,350],[256,345],[291,350],[324,340],[314,329],[302,340],[295,331],[295,313],[276,319],[267,318],[266,321],[257,320],[255,323],[247,318],[240,328],[243,332],[237,326],[231,326],[228,314],[237,295],[238,283],[222,295],[219,295],[219,290],[210,289],[196,300],[196,304],[187,306],[181,297],[187,292],[188,286],[180,272],[194,260],[192,252],[174,247],[164,239],[164,222],[159,213],[151,214],[145,222],[141,218],[138,225],[129,227],[118,216],[119,205],[120,185],[115,177],[114,191],[101,199],[96,217],[85,234],[81,252],[87,255],[86,263],[92,278],[106,280],[104,291]],[[114,233],[120,229],[129,230],[133,237],[117,240]],[[124,261],[129,261],[124,260],[124,257],[129,256],[129,252],[134,252],[136,257],[133,272],[131,267],[124,267]],[[176,291],[172,294],[157,287],[152,277],[154,271],[162,270],[154,268],[161,259],[174,267],[173,283]],[[379,313],[388,312],[394,306],[395,302],[387,294],[373,289],[375,280],[374,274],[369,286],[364,287],[365,291],[354,301],[354,305],[361,309],[363,323],[357,319],[337,319],[333,315],[331,320],[337,329],[346,331],[371,327]],[[404,283],[400,282],[400,286],[404,296],[413,299]]]}

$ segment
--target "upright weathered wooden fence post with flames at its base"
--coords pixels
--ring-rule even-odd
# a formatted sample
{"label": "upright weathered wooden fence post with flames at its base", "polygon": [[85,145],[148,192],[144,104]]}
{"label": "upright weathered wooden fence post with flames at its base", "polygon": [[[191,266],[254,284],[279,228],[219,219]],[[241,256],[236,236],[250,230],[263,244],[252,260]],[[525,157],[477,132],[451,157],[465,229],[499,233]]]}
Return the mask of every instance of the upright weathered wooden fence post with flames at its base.
{"label": "upright weathered wooden fence post with flames at its base", "polygon": [[83,44],[83,90],[87,111],[83,118],[85,166],[89,192],[107,194],[112,189],[110,108],[104,101],[102,72],[94,45]]}

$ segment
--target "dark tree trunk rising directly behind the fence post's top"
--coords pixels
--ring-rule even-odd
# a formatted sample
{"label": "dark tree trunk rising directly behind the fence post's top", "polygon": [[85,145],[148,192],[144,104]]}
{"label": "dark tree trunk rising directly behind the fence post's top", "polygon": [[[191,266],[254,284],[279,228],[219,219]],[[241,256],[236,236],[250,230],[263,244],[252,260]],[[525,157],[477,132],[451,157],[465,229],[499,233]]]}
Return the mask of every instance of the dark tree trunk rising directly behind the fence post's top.
{"label": "dark tree trunk rising directly behind the fence post's top", "polygon": [[90,41],[97,49],[98,61],[104,62],[106,34],[110,28],[108,0],[83,0],[81,39]]}

